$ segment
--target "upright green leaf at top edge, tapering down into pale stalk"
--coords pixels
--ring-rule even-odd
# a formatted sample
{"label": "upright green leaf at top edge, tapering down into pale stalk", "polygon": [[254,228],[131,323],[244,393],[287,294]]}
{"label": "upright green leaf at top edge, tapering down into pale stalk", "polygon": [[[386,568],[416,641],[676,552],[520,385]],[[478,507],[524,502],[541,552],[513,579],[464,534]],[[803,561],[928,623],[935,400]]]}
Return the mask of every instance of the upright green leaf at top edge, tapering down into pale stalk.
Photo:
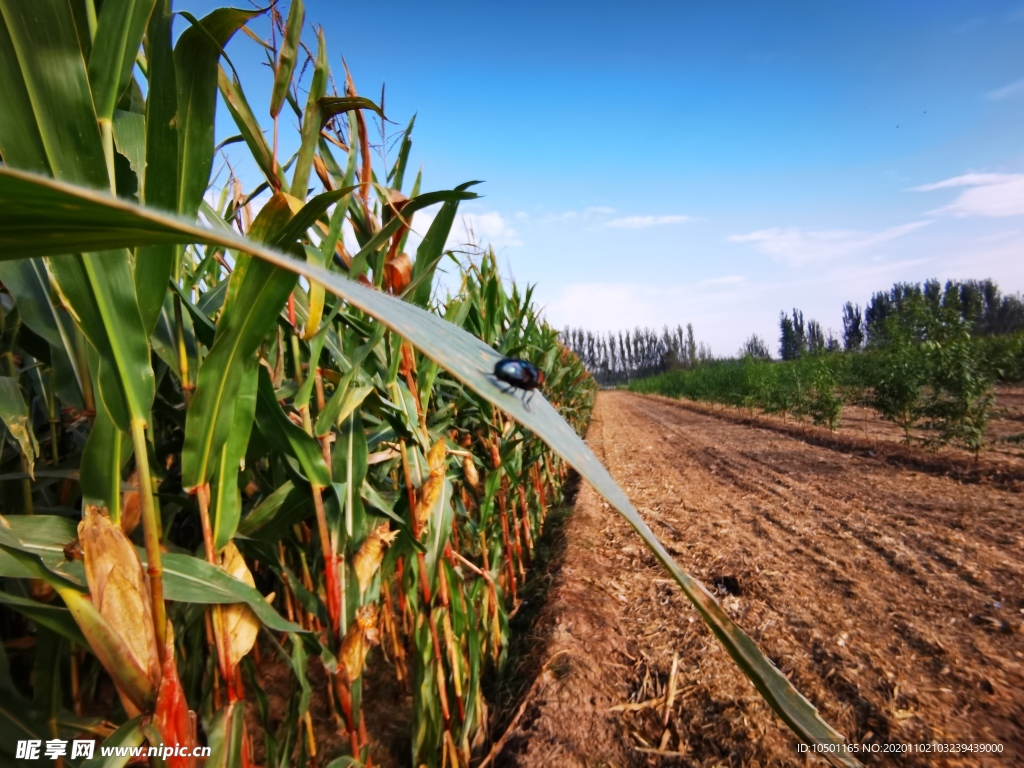
{"label": "upright green leaf at top edge, tapering down into pale stalk", "polygon": [[106,0],[100,8],[89,56],[89,85],[96,116],[110,121],[131,79],[155,0]]}

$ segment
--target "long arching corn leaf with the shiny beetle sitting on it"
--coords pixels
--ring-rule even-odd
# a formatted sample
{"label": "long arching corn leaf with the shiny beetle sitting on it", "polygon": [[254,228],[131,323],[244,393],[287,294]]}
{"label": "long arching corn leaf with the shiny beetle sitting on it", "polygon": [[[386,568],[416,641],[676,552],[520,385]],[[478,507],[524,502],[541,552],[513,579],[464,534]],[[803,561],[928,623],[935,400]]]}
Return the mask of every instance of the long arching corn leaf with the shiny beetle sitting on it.
{"label": "long arching corn leaf with the shiny beetle sitting on it", "polygon": [[[361,309],[388,326],[425,355],[450,371],[466,387],[505,411],[541,437],[587,479],[633,526],[665,569],[679,584],[701,618],[761,695],[802,739],[810,743],[843,741],[843,737],[821,720],[811,703],[758,649],[754,641],[729,617],[705,586],[676,564],[629,498],[615,484],[611,475],[551,404],[542,395],[536,394],[530,408],[527,409],[517,394],[502,390],[493,376],[495,364],[501,359],[501,354],[480,340],[413,304],[397,301],[355,282],[345,280],[341,275],[330,273],[256,243],[233,236],[229,238],[222,233],[204,231],[195,224],[141,209],[110,196],[45,178],[34,178],[30,174],[6,168],[0,168],[0,232],[4,231],[2,225],[11,221],[11,214],[7,212],[7,202],[13,204],[19,198],[23,200],[44,198],[49,202],[48,206],[40,209],[30,208],[28,211],[23,209],[23,215],[30,220],[30,223],[35,223],[31,222],[33,216],[39,218],[44,215],[39,212],[40,210],[48,211],[59,205],[66,207],[75,205],[90,215],[90,228],[96,228],[97,222],[104,222],[103,237],[109,242],[119,245],[131,245],[134,242],[132,238],[138,237],[139,230],[144,230],[153,232],[152,237],[169,238],[173,232],[177,232],[181,241],[200,240],[238,248],[276,266],[302,274],[308,280],[323,283],[329,291],[345,299],[351,306]],[[85,227],[80,225],[79,234],[83,228]],[[31,231],[35,231],[35,228]],[[63,237],[75,237],[75,230],[68,227],[63,231]],[[23,239],[18,239],[16,231],[0,234],[0,242],[5,238],[8,241],[13,240],[14,243],[24,242],[24,236]],[[40,248],[42,245],[37,243],[36,247]],[[857,765],[852,758],[844,757],[839,759],[839,762]]]}

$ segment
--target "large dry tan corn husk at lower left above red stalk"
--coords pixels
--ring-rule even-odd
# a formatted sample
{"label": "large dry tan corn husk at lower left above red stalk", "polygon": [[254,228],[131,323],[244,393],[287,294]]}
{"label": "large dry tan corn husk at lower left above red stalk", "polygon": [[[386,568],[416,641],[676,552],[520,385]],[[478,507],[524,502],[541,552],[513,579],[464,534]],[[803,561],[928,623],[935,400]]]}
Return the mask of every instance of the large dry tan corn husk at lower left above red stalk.
{"label": "large dry tan corn husk at lower left above red stalk", "polygon": [[93,647],[92,635],[97,635],[97,639],[99,633],[114,635],[115,657],[103,666],[114,680],[125,711],[134,717],[145,711],[152,700],[130,693],[135,686],[122,679],[126,670],[141,672],[154,689],[161,679],[150,581],[128,537],[98,508],[86,506],[85,518],[78,525],[78,538],[92,602],[106,624],[106,627],[92,627],[80,623],[82,633]]}

